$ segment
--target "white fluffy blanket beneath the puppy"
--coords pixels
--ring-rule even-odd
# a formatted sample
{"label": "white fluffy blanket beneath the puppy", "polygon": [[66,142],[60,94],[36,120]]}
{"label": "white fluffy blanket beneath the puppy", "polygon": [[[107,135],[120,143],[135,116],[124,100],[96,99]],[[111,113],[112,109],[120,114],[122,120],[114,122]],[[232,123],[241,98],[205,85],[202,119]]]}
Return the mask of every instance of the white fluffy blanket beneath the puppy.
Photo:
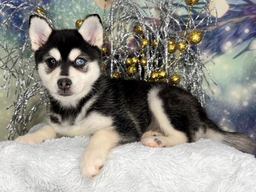
{"label": "white fluffy blanket beneath the puppy", "polygon": [[88,141],[1,142],[0,192],[256,191],[256,159],[211,140],[171,148],[122,145],[111,151],[102,173],[87,180],[79,163]]}

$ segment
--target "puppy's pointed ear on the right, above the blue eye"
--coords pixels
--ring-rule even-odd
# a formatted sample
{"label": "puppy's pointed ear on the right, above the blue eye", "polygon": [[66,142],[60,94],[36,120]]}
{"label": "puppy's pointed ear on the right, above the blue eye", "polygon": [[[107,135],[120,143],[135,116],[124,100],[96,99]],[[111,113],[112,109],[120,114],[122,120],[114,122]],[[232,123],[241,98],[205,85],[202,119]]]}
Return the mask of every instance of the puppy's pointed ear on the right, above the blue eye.
{"label": "puppy's pointed ear on the right, above the blue eye", "polygon": [[102,49],[103,27],[99,15],[93,14],[86,17],[78,32],[89,44]]}

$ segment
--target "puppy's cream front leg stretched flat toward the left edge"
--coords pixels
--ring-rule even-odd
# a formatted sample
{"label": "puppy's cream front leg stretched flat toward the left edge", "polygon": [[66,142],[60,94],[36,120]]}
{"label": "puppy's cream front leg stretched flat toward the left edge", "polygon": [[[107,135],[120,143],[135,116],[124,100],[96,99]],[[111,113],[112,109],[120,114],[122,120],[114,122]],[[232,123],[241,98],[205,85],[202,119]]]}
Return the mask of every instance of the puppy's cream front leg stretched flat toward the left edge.
{"label": "puppy's cream front leg stretched flat toward the left edge", "polygon": [[34,133],[17,137],[15,139],[15,142],[35,145],[38,143],[42,143],[44,140],[54,138],[56,138],[56,132],[53,130],[53,128],[49,125],[44,125],[44,127],[39,129],[38,131],[35,131]]}

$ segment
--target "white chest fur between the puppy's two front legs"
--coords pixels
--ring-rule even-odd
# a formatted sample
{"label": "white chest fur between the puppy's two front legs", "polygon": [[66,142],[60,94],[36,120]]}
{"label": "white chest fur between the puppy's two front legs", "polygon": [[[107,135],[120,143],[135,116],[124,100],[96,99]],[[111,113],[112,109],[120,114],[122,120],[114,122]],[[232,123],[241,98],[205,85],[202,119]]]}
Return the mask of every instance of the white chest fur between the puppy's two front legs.
{"label": "white chest fur between the puppy's two front legs", "polygon": [[103,116],[98,112],[91,112],[85,118],[77,117],[75,125],[69,125],[68,122],[61,124],[51,123],[56,133],[74,137],[76,135],[90,136],[99,129],[112,129],[111,117]]}

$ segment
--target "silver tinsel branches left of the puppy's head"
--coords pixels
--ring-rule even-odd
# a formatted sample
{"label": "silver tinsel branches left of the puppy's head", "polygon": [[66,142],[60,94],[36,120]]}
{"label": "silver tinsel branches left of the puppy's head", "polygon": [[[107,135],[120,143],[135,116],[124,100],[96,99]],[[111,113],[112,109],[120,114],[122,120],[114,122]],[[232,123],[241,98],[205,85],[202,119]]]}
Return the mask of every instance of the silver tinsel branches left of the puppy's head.
{"label": "silver tinsel branches left of the puppy's head", "polygon": [[[12,140],[16,132],[19,135],[26,132],[26,125],[32,119],[38,106],[41,104],[47,106],[48,103],[44,88],[37,77],[34,54],[30,48],[29,16],[39,15],[51,26],[52,21],[41,0],[20,0],[18,3],[16,0],[6,0],[0,3],[0,14],[3,16],[3,21],[0,23],[0,32],[3,32],[3,38],[0,39],[0,52],[2,53],[0,69],[3,73],[3,84],[0,90],[6,90],[8,96],[11,84],[15,83],[16,99],[9,107],[14,108],[14,112],[7,126],[8,138]],[[18,16],[21,16],[21,19],[15,22],[14,17]],[[18,33],[21,35],[15,36]],[[9,43],[13,38],[17,43]],[[28,109],[29,99],[38,95],[40,95],[38,103]]]}

